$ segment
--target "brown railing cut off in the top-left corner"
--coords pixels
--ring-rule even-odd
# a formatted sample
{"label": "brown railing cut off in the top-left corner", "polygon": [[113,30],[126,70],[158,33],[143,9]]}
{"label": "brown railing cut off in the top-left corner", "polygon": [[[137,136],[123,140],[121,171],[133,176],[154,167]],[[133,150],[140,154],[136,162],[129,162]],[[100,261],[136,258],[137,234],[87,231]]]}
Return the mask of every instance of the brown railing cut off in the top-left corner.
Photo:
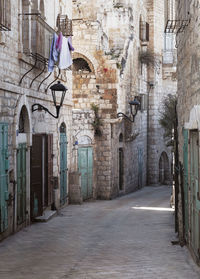
{"label": "brown railing cut off in the top-left corner", "polygon": [[11,30],[10,0],[0,0],[0,31]]}

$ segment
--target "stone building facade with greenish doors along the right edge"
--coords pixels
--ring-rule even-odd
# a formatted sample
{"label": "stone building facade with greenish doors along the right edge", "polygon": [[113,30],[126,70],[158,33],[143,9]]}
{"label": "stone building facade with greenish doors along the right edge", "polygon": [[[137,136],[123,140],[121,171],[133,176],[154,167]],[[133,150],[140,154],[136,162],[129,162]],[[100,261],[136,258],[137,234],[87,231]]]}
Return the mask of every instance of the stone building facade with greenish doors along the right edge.
{"label": "stone building facade with greenish doors along the right edge", "polygon": [[177,1],[175,29],[178,50],[178,131],[179,131],[179,236],[186,241],[199,263],[199,1]]}

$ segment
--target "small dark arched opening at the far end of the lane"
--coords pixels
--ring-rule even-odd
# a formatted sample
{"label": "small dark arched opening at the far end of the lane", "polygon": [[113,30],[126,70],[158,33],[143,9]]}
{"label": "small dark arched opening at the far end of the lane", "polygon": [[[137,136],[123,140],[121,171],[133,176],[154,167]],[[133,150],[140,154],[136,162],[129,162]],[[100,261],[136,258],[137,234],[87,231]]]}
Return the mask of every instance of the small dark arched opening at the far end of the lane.
{"label": "small dark arched opening at the far end of the lane", "polygon": [[162,152],[159,159],[159,183],[169,184],[170,182],[170,166],[169,158],[166,152]]}

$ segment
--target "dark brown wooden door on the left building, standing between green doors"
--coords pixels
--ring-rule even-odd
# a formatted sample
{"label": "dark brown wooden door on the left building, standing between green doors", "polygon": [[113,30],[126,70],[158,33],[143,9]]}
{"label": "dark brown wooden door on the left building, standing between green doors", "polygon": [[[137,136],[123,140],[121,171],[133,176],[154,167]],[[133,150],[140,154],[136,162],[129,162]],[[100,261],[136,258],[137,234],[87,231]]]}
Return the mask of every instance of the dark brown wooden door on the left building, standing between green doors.
{"label": "dark brown wooden door on the left building, standing between green doors", "polygon": [[53,135],[33,135],[31,149],[31,218],[53,202]]}

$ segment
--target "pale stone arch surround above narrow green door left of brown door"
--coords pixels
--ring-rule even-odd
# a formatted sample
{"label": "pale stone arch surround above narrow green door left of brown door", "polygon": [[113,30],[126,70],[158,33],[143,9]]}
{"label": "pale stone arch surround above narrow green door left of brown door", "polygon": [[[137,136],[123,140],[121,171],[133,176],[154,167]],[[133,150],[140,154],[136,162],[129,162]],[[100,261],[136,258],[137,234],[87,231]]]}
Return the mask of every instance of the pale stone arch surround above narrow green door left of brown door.
{"label": "pale stone arch surround above narrow green door left of brown door", "polygon": [[[22,114],[21,114],[22,113]],[[19,143],[19,127],[20,127],[20,117],[25,117],[25,131],[27,137],[27,145],[32,145],[32,119],[31,119],[31,111],[29,109],[29,104],[26,96],[22,96],[19,98],[17,102],[17,106],[15,109],[14,116],[14,125],[13,125],[13,139],[14,139],[14,147],[17,148]]]}

